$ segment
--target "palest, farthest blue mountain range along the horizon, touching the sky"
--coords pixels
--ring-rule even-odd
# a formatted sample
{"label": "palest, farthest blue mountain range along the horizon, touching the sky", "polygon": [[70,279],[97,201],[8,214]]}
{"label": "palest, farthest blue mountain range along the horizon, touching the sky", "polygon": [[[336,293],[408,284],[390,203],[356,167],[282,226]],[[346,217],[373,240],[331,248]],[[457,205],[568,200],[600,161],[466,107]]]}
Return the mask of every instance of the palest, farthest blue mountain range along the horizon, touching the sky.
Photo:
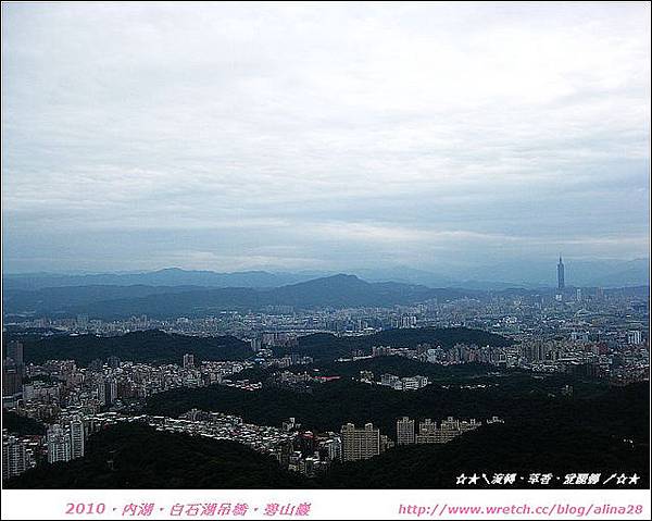
{"label": "palest, farthest blue mountain range along the horizon, touching the sky", "polygon": [[[623,287],[650,283],[649,259],[566,261],[566,282],[574,286]],[[447,268],[437,273],[410,266],[351,270],[368,282],[397,282],[428,287],[457,287],[494,290],[510,287],[553,287],[556,259],[544,261],[505,261],[479,268]],[[4,274],[2,283],[10,289],[41,289],[68,286],[201,286],[271,288],[334,275],[327,271],[298,273],[242,271],[218,273],[179,268],[141,273]]]}

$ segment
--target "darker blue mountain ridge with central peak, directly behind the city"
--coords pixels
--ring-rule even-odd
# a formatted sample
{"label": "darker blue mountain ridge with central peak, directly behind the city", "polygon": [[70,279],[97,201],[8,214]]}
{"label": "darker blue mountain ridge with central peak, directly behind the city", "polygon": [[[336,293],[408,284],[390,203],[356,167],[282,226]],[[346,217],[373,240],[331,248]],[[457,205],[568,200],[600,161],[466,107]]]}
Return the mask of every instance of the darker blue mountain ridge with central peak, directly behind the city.
{"label": "darker blue mountain ridge with central peak, directly behind the city", "polygon": [[[552,288],[501,289],[504,296],[549,295]],[[647,287],[627,288],[647,295]],[[2,299],[5,315],[76,317],[113,320],[146,314],[150,318],[205,317],[226,310],[267,310],[269,307],[361,308],[414,305],[431,299],[482,299],[490,293],[465,288],[430,288],[396,282],[369,283],[355,275],[338,274],[280,287],[203,286],[63,286],[41,289],[7,288]]]}

